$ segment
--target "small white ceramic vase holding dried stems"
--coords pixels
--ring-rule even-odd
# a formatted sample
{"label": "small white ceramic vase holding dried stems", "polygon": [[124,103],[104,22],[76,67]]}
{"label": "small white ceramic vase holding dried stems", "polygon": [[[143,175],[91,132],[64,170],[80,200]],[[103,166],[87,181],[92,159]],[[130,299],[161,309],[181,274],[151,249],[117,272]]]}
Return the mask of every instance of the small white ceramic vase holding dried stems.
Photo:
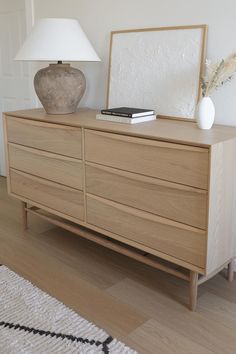
{"label": "small white ceramic vase holding dried stems", "polygon": [[200,129],[211,129],[215,119],[215,106],[210,97],[203,97],[198,103],[197,124]]}

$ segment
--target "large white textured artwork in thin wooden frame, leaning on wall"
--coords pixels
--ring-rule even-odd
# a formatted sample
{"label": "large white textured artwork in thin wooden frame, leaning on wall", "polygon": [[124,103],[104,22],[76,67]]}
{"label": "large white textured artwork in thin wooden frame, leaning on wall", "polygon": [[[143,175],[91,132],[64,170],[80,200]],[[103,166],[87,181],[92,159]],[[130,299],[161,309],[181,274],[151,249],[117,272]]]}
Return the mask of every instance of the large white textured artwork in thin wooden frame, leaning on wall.
{"label": "large white textured artwork in thin wooden frame, leaning on wall", "polygon": [[204,70],[206,25],[111,32],[107,108],[154,109],[194,119]]}

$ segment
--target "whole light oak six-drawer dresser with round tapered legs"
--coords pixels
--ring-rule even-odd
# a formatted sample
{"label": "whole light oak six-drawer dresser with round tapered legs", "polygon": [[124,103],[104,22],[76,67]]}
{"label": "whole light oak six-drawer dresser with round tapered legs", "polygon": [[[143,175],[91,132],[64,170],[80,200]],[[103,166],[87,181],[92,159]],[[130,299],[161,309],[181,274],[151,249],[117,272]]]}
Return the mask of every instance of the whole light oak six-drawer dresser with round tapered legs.
{"label": "whole light oak six-drawer dresser with round tapered legs", "polygon": [[126,125],[96,111],[4,115],[9,194],[24,227],[37,214],[198,285],[233,279],[236,128],[157,119]]}

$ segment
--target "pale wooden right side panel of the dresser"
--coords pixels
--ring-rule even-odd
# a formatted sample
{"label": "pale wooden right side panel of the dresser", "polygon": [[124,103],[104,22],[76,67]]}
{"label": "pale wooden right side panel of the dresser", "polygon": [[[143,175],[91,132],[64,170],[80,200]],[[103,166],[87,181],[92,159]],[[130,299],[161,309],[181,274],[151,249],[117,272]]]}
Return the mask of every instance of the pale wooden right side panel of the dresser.
{"label": "pale wooden right side panel of the dresser", "polygon": [[236,140],[211,147],[207,267],[210,274],[236,254]]}

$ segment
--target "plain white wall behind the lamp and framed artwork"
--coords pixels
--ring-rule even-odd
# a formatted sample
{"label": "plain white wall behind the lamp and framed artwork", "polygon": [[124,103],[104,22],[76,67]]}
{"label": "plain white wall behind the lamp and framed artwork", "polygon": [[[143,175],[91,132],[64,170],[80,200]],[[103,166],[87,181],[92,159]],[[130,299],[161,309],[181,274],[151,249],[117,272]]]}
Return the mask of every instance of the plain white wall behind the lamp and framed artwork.
{"label": "plain white wall behind the lamp and framed artwork", "polygon": [[[119,29],[208,24],[207,57],[236,51],[235,0],[34,0],[35,18],[78,18],[101,63],[76,64],[87,77],[82,105],[102,108],[106,100],[110,32]],[[213,95],[216,122],[236,125],[236,75]]]}

